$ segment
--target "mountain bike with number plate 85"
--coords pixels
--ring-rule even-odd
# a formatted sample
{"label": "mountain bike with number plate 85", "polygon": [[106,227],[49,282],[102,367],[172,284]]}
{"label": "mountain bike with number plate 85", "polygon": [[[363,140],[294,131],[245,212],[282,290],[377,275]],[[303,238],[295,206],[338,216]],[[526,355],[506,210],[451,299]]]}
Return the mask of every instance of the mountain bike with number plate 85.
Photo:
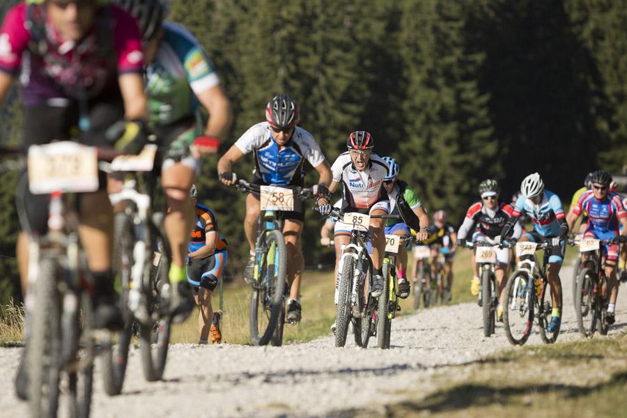
{"label": "mountain bike with number plate 85", "polygon": [[338,265],[334,301],[337,309],[335,346],[346,345],[348,323],[353,323],[355,344],[366,348],[378,300],[372,297],[373,265],[368,254],[370,219],[397,219],[398,215],[364,215],[332,209],[329,215],[336,221],[352,226],[348,245],[342,245]]}

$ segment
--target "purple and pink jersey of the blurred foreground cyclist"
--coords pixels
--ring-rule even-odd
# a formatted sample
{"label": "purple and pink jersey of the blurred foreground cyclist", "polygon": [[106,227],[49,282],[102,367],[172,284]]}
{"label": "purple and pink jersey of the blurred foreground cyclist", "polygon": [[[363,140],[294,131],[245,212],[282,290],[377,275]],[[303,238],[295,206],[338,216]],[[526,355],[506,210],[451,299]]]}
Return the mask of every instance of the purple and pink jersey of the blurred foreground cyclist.
{"label": "purple and pink jersey of the blurred foreground cyclist", "polygon": [[[29,7],[45,28],[47,49],[42,56],[29,49],[34,40],[32,30],[26,29]],[[123,9],[105,6],[97,10],[94,27],[79,45],[63,40],[44,10],[44,6],[20,3],[8,11],[0,29],[0,70],[16,75],[22,68],[20,80],[26,106],[53,98],[93,97],[117,83],[120,74],[141,74],[144,61],[141,35],[137,22]],[[103,48],[99,41],[97,24],[112,25],[110,29],[107,27],[106,34],[110,48]]]}

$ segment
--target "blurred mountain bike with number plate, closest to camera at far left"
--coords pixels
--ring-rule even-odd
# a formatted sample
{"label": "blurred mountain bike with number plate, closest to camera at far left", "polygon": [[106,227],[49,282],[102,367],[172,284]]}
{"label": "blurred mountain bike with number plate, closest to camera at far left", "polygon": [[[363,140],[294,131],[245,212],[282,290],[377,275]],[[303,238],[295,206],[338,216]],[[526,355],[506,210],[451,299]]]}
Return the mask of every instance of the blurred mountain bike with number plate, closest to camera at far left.
{"label": "blurred mountain bike with number plate, closest to camera at far left", "polygon": [[[65,194],[98,190],[98,160],[109,159],[107,153],[73,141],[29,148],[30,191],[50,195],[48,231],[31,234],[29,244],[25,365],[35,417],[56,416],[61,393],[68,395],[70,417],[87,417],[91,409],[94,284],[79,244],[79,216]],[[23,208],[23,197],[17,199]]]}

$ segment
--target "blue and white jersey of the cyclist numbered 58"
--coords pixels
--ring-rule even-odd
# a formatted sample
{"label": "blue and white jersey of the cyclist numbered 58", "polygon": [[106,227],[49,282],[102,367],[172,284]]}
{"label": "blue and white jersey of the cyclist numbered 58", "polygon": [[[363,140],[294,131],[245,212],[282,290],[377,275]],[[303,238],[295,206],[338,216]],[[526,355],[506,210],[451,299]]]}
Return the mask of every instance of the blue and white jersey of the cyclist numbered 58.
{"label": "blue and white jersey of the cyclist numbered 58", "polygon": [[297,126],[288,143],[279,147],[268,122],[260,122],[249,128],[237,141],[242,154],[254,152],[256,178],[267,185],[299,185],[304,177],[304,162],[318,167],[325,161],[314,137]]}

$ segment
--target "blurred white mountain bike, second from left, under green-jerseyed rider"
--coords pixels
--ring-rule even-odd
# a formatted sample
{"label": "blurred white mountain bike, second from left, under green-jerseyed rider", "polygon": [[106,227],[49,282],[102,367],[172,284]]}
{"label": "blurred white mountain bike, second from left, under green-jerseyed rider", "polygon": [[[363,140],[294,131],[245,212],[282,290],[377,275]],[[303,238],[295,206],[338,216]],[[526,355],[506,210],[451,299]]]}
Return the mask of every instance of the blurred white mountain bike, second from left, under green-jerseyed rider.
{"label": "blurred white mountain bike, second from left, under green-jerseyed rider", "polygon": [[121,283],[124,327],[102,341],[102,377],[109,395],[122,390],[128,350],[139,336],[144,378],[160,380],[165,370],[171,317],[167,312],[170,251],[160,213],[152,211],[157,146],[148,145],[137,156],[118,157],[110,171],[124,173],[118,193],[109,195],[121,206],[115,217],[113,266]]}

